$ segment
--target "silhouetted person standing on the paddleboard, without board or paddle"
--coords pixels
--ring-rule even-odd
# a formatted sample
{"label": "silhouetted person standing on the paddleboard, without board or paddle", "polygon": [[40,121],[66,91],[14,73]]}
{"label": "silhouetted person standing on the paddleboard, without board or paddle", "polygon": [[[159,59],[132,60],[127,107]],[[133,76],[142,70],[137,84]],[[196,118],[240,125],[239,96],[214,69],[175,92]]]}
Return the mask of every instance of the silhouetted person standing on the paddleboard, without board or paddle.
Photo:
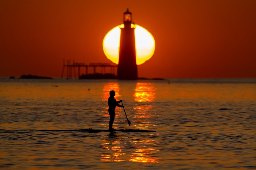
{"label": "silhouetted person standing on the paddleboard, without board or paddle", "polygon": [[112,128],[112,126],[113,126],[113,123],[114,123],[114,120],[115,120],[116,106],[123,107],[123,106],[118,104],[118,103],[122,102],[123,100],[116,101],[116,99],[114,97],[115,94],[116,93],[115,93],[114,90],[111,90],[109,92],[109,98],[108,98],[108,115],[110,116],[109,128],[108,128],[109,131],[114,131],[115,130],[114,128]]}

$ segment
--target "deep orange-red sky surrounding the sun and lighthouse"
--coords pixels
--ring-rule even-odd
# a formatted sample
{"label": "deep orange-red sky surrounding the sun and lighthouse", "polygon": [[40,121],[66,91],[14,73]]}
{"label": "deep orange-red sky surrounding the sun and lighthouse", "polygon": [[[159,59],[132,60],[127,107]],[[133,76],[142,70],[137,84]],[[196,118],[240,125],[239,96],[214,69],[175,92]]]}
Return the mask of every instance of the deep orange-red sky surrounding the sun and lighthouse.
{"label": "deep orange-red sky surrounding the sun and lighthouse", "polygon": [[156,42],[139,77],[256,77],[256,0],[1,0],[0,77],[110,63],[102,41],[126,8]]}

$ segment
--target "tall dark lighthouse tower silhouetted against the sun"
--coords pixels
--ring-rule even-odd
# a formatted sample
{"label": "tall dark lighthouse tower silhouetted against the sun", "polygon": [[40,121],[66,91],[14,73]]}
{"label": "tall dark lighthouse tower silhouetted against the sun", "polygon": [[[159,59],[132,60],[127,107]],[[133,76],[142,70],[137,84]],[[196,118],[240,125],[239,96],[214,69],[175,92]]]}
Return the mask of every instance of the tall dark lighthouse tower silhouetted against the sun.
{"label": "tall dark lighthouse tower silhouetted against the sun", "polygon": [[117,67],[118,79],[137,79],[135,28],[131,27],[132,13],[124,12],[124,28],[121,29],[119,59]]}

